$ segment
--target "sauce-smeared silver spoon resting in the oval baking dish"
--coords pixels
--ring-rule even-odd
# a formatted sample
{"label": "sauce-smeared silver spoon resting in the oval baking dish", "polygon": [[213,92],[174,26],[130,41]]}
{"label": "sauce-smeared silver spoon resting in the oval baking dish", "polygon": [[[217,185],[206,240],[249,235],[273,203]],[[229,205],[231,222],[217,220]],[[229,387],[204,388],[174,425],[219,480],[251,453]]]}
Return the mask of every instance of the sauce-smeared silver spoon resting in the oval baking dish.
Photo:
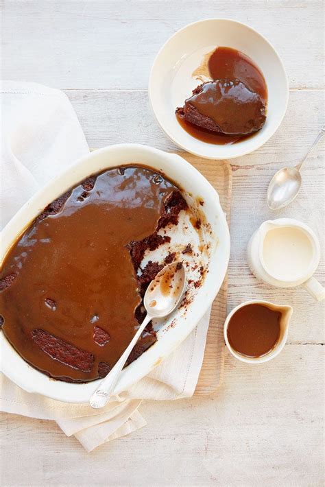
{"label": "sauce-smeared silver spoon resting in the oval baking dish", "polygon": [[149,284],[145,297],[143,298],[143,304],[147,311],[147,316],[139,326],[136,334],[132,338],[132,341],[126,348],[123,355],[119,358],[115,366],[110,370],[105,379],[101,381],[97,390],[91,396],[89,403],[91,407],[98,409],[103,407],[110,399],[112,392],[114,392],[115,385],[119,379],[119,375],[125,362],[130,355],[132,348],[139,340],[139,337],[145,326],[152,320],[152,318],[163,318],[173,311],[178,303],[185,287],[185,268],[180,262],[174,262],[169,265],[165,265],[163,270],[158,272],[154,281]]}

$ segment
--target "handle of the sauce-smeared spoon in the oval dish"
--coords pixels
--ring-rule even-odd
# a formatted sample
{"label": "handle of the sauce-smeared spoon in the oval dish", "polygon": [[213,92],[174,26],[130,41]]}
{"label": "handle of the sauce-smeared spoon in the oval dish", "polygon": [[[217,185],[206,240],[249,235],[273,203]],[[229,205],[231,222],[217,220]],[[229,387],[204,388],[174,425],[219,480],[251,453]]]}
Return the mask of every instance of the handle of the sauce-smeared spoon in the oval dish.
{"label": "handle of the sauce-smeared spoon in the oval dish", "polygon": [[119,358],[115,366],[112,368],[112,370],[110,370],[108,375],[106,375],[105,379],[101,381],[98,388],[91,396],[91,399],[89,400],[91,407],[94,407],[95,409],[99,409],[99,407],[104,407],[104,405],[106,405],[108,399],[110,399],[110,396],[112,395],[117,380],[119,379],[121,370],[123,369],[125,362],[128,360],[128,356],[130,355],[132,348],[139,340],[141,333],[143,332],[145,326],[147,326],[150,320],[152,320],[152,316],[149,315],[149,313],[147,313],[147,316],[139,326],[138,331],[136,331],[136,334],[132,338],[130,344],[128,345],[128,348],[126,348],[126,350],[123,352],[123,354],[121,355],[121,357]]}

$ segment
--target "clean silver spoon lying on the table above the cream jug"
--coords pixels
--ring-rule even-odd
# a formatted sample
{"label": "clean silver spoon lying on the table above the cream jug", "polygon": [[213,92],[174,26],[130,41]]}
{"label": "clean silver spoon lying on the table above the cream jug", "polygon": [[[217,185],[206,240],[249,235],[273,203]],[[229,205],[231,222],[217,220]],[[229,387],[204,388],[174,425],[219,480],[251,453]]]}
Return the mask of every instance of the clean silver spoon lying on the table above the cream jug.
{"label": "clean silver spoon lying on the table above the cream jug", "polygon": [[280,210],[296,198],[301,187],[300,169],[306,158],[310,156],[322,136],[325,134],[325,126],[322,127],[317,135],[315,142],[296,167],[283,167],[274,174],[267,189],[267,204],[272,210]]}

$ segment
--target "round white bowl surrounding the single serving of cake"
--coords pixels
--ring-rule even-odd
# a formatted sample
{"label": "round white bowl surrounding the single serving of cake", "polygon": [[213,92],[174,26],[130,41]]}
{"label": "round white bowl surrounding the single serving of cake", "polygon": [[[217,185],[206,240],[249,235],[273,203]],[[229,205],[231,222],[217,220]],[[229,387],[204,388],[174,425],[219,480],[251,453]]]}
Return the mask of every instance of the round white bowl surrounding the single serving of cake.
{"label": "round white bowl surrounding the single serving of cake", "polygon": [[[268,91],[267,119],[254,136],[231,145],[202,142],[178,123],[175,110],[200,84],[192,73],[217,46],[232,47],[252,58],[263,72]],[[231,159],[261,147],[276,131],[287,110],[289,88],[285,68],[274,47],[252,27],[230,19],[206,19],[186,25],[158,52],[149,78],[149,99],[156,119],[183,149],[208,159]]]}

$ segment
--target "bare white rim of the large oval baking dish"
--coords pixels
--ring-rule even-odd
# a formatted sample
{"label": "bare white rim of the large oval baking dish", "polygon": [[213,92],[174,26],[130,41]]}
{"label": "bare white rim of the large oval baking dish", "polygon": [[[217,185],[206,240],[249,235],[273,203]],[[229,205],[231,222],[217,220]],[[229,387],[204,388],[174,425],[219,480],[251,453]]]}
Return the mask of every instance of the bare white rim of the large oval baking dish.
{"label": "bare white rim of the large oval baking dish", "polygon": [[[132,362],[121,373],[115,388],[115,394],[130,388],[130,386],[147,375],[160,361],[173,351],[193,330],[213,302],[226,274],[229,254],[230,236],[226,217],[219,203],[219,196],[210,183],[193,166],[184,161],[177,154],[167,154],[161,150],[138,144],[110,145],[82,157],[68,167],[67,171],[53,179],[47,186],[38,191],[21,210],[10,220],[3,229],[1,242],[1,259],[21,235],[30,222],[51,201],[69,188],[77,185],[87,176],[104,171],[117,165],[143,163],[163,171],[167,177],[175,181],[184,191],[192,193],[193,197],[204,198],[205,217],[214,233],[215,248],[208,264],[209,272],[202,287],[198,289],[193,302],[182,311],[178,310],[167,318],[163,329],[158,332],[157,342],[149,348],[139,359]],[[175,326],[169,326],[171,319]],[[38,370],[29,366],[21,356],[14,351],[3,333],[0,333],[1,371],[19,387],[27,392],[37,392],[44,396],[71,403],[86,403],[95,391],[98,381],[89,383],[67,383],[50,379]],[[177,373],[177,371],[176,371]]]}

